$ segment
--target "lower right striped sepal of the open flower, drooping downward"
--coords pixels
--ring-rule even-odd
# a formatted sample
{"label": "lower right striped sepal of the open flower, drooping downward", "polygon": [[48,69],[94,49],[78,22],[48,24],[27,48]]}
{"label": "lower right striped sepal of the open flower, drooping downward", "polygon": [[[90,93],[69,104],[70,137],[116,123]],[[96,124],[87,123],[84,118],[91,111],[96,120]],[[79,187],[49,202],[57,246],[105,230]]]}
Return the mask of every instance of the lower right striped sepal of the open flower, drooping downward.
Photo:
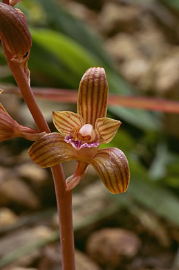
{"label": "lower right striped sepal of the open flower, drooping downward", "polygon": [[124,153],[117,148],[98,150],[88,161],[99,174],[104,185],[111,193],[125,192],[129,186],[129,164]]}

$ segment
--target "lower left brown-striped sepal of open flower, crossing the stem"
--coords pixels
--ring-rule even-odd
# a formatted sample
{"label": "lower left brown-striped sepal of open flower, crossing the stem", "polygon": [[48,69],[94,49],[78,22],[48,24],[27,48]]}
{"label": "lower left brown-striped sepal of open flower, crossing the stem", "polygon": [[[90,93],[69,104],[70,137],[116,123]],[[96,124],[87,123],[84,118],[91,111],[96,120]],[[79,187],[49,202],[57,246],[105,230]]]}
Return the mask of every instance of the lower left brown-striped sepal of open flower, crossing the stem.
{"label": "lower left brown-striped sepal of open flower, crossing the stem", "polygon": [[64,141],[64,136],[59,133],[50,133],[39,138],[28,150],[32,161],[46,168],[64,161],[75,159],[73,146]]}

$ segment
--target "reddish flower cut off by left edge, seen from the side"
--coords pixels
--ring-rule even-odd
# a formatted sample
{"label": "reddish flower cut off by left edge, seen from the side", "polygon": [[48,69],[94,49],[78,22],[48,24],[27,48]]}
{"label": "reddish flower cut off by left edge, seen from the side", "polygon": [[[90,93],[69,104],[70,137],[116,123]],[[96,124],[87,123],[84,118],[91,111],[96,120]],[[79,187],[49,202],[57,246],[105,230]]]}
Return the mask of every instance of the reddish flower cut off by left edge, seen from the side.
{"label": "reddish flower cut off by left edge, seen from the side", "polygon": [[[0,93],[3,91],[0,89]],[[0,103],[0,141],[10,140],[10,138],[23,137],[30,141],[36,141],[46,132],[37,132],[31,127],[24,127],[18,124]]]}

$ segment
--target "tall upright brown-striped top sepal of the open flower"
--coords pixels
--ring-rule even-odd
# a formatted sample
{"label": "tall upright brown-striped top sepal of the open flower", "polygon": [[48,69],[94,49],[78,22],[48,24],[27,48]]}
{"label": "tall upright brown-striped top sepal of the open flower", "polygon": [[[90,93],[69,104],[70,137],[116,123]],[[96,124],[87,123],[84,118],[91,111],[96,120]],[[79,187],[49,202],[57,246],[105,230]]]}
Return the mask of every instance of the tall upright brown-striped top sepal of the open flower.
{"label": "tall upright brown-striped top sepal of the open flower", "polygon": [[79,83],[77,112],[85,124],[95,125],[95,120],[106,116],[108,83],[102,67],[88,69]]}

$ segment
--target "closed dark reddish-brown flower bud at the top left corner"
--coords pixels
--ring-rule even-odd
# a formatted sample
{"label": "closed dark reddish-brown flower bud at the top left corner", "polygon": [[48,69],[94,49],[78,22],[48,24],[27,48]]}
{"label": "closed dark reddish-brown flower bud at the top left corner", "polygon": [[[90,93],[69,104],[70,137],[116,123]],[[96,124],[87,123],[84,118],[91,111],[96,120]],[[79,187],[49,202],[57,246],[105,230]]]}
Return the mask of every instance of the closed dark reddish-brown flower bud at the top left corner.
{"label": "closed dark reddish-brown flower bud at the top left corner", "polygon": [[[17,3],[17,1],[11,1],[11,3]],[[0,37],[12,54],[12,58],[20,62],[26,60],[32,46],[26,18],[22,12],[6,3],[0,3]]]}

